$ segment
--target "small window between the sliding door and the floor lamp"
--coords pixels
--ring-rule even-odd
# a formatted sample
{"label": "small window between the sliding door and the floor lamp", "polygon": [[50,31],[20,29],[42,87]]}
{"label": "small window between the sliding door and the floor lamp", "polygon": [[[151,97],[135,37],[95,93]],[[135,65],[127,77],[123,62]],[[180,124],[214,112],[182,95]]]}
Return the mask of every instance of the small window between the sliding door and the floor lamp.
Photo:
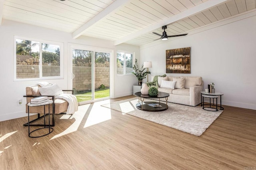
{"label": "small window between the sliding door and the floor lamp", "polygon": [[131,52],[117,51],[117,74],[124,75],[132,72],[133,54]]}

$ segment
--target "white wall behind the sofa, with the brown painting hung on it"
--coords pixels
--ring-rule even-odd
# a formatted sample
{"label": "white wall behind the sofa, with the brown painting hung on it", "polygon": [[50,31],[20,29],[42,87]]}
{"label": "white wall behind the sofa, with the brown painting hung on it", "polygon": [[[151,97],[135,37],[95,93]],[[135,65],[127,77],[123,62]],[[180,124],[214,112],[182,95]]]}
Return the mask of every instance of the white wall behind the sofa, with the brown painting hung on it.
{"label": "white wall behind the sofa, with the brown painting hung on it", "polygon": [[204,89],[214,82],[222,92],[222,104],[256,110],[256,12],[212,24],[187,36],[173,38],[140,50],[140,61],[152,61],[152,75],[166,73],[167,49],[191,47],[191,73],[172,76],[202,76]]}

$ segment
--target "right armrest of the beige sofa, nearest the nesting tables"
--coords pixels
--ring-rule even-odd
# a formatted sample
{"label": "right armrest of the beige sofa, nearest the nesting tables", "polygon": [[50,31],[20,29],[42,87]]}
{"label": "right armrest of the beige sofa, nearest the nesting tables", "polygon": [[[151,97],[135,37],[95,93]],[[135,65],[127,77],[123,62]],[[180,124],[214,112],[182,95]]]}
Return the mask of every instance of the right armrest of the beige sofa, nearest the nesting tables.
{"label": "right armrest of the beige sofa, nearest the nesting tables", "polygon": [[190,106],[196,106],[201,102],[202,85],[196,85],[189,88],[189,102]]}

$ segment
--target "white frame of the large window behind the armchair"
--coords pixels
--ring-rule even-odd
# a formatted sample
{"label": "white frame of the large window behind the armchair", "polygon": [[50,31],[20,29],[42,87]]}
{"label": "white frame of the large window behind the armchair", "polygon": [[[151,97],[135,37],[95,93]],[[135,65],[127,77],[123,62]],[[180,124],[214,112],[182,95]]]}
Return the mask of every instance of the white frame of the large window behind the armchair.
{"label": "white frame of the large window behind the armchair", "polygon": [[[39,78],[17,78],[17,67],[16,67],[16,39],[20,40],[29,40],[34,42],[39,42]],[[42,43],[47,43],[50,45],[59,45],[60,46],[60,76],[51,76],[51,77],[43,77],[42,76]],[[35,38],[14,36],[14,81],[32,81],[32,80],[49,80],[49,79],[64,79],[64,43],[62,42],[54,42],[48,40],[41,40]]]}

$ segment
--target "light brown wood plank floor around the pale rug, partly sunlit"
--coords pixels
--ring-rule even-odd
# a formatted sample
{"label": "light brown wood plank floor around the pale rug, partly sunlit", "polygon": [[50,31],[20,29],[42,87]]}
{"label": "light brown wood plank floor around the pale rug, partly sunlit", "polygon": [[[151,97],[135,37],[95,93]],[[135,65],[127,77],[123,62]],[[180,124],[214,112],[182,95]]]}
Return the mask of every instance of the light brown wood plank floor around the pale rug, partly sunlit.
{"label": "light brown wood plank floor around the pale rug, partly sunlit", "polygon": [[[28,127],[23,127],[27,117],[0,122],[0,169],[256,167],[255,110],[224,106],[220,117],[198,137],[118,111],[100,109],[97,103],[82,107],[87,111],[81,112],[80,118],[56,115],[54,131],[40,138],[28,137]],[[103,118],[102,112],[108,117]],[[93,125],[93,119],[98,123]],[[72,126],[75,123],[78,125]]]}

